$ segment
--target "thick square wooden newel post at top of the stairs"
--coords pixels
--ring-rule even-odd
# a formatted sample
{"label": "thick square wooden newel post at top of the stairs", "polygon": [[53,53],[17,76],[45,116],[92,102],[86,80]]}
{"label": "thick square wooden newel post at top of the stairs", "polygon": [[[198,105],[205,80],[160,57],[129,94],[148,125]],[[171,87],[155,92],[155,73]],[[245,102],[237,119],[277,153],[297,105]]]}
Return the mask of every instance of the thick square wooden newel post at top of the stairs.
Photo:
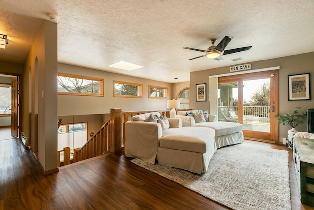
{"label": "thick square wooden newel post at top of the stairs", "polygon": [[121,153],[122,145],[122,109],[110,109],[111,153]]}

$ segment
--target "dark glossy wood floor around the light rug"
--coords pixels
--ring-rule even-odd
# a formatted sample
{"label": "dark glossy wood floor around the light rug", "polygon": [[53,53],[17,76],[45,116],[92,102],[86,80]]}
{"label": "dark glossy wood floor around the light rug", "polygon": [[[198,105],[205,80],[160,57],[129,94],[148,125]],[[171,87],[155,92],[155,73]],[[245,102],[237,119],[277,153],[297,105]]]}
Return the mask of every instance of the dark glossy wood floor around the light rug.
{"label": "dark glossy wood floor around the light rug", "polygon": [[[1,139],[1,132],[0,129],[0,210],[228,209],[132,164],[123,155],[82,161],[43,176],[31,151],[15,138]],[[288,150],[292,210],[314,210],[300,203],[292,150],[269,143],[246,141],[246,144]]]}

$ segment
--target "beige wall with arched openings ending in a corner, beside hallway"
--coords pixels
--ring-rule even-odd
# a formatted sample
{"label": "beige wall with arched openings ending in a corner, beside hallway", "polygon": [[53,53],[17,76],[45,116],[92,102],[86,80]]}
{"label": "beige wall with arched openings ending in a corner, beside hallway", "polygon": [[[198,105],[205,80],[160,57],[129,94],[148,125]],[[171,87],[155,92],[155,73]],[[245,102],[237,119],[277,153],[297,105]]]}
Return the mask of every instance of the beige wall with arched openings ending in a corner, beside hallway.
{"label": "beige wall with arched openings ending in a corner, beside hallway", "polygon": [[[30,73],[31,72],[31,73]],[[57,168],[57,24],[44,20],[24,63],[23,124],[44,171]],[[35,81],[34,81],[35,80]],[[31,87],[29,82],[32,81]],[[37,81],[37,82],[36,82]],[[36,86],[36,87],[34,87]],[[34,91],[34,89],[38,91]],[[34,100],[37,99],[37,100]],[[32,101],[32,103],[29,103]],[[31,106],[31,107],[30,107]],[[37,107],[37,109],[34,109]],[[30,115],[35,112],[35,117]],[[38,113],[38,127],[34,124]],[[32,128],[31,128],[31,125]],[[35,126],[34,126],[35,125]],[[31,132],[31,133],[30,133]],[[34,148],[33,148],[34,143]]]}

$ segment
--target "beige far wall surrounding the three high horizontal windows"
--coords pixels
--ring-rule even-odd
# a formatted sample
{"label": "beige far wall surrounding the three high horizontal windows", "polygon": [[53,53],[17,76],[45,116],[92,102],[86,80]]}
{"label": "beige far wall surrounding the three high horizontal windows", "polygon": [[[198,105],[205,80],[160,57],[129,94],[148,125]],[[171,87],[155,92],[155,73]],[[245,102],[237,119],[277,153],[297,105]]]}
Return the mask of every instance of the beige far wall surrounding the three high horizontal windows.
{"label": "beige far wall surrounding the three high horizontal windows", "polygon": [[[108,114],[111,108],[123,111],[163,110],[167,108],[167,99],[148,98],[148,86],[168,88],[168,99],[173,97],[171,83],[147,80],[122,74],[58,63],[58,72],[104,79],[104,97],[58,95],[58,115]],[[142,84],[142,98],[113,97],[113,81]]]}

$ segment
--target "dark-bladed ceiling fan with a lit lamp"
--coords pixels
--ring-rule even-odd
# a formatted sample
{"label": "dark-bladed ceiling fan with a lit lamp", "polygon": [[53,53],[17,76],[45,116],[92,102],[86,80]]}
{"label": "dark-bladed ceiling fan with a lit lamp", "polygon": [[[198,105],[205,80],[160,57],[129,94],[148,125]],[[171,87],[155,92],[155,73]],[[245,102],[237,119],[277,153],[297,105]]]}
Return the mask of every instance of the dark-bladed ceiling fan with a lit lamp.
{"label": "dark-bladed ceiling fan with a lit lamp", "polygon": [[226,46],[229,44],[229,42],[231,41],[230,36],[225,36],[217,46],[214,46],[216,39],[210,39],[210,43],[212,44],[212,46],[210,46],[209,48],[207,48],[207,50],[200,50],[200,49],[195,49],[195,48],[190,48],[190,47],[183,47],[184,49],[188,49],[188,50],[196,50],[196,51],[200,51],[200,52],[206,52],[205,55],[202,56],[198,56],[192,59],[188,59],[188,60],[193,60],[193,59],[198,59],[201,57],[208,57],[210,59],[214,59],[214,60],[223,60],[223,58],[221,57],[222,55],[227,55],[227,54],[231,54],[231,53],[237,53],[237,52],[241,52],[241,51],[245,51],[245,50],[249,50],[251,49],[252,46],[247,46],[247,47],[240,47],[240,48],[235,48],[235,49],[230,49],[230,50],[224,50],[226,48]]}

